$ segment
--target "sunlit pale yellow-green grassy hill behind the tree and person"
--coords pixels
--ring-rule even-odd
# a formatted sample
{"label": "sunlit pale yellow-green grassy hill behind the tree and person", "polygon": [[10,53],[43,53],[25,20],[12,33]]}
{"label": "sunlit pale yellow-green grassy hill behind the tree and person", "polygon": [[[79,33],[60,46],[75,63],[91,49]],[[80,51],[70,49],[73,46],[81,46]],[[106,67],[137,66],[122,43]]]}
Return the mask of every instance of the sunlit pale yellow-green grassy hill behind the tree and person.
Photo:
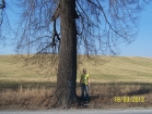
{"label": "sunlit pale yellow-green grassy hill behind the tree and person", "polygon": [[[152,59],[138,56],[96,56],[78,61],[78,81],[83,67],[93,83],[152,83]],[[0,55],[0,87],[27,84],[49,85],[56,81],[55,73],[36,72],[24,66],[15,55]],[[39,74],[42,73],[42,74]]]}

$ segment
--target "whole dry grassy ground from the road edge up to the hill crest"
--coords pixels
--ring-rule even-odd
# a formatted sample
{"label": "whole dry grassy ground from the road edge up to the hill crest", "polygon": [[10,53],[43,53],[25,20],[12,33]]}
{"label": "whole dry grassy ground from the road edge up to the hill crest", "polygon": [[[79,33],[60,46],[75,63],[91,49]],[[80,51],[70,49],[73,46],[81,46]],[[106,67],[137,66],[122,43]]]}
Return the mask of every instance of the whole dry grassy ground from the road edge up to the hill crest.
{"label": "whole dry grassy ground from the road edge up to the hill crest", "polygon": [[[36,65],[25,66],[16,60],[17,55],[0,55],[0,110],[50,107],[56,72],[46,75],[45,71],[33,68]],[[78,63],[78,83],[83,67],[91,76],[87,107],[152,107],[152,59],[96,56],[82,58]],[[79,85],[77,92],[80,96]]]}

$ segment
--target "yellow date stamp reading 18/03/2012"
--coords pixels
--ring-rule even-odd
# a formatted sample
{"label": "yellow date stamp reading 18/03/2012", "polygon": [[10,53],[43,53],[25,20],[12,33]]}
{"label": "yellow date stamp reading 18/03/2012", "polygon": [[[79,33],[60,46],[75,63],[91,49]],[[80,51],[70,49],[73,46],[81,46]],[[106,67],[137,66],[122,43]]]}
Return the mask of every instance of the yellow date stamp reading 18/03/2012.
{"label": "yellow date stamp reading 18/03/2012", "polygon": [[144,97],[114,97],[114,102],[118,102],[118,103],[142,103],[145,102],[145,98]]}

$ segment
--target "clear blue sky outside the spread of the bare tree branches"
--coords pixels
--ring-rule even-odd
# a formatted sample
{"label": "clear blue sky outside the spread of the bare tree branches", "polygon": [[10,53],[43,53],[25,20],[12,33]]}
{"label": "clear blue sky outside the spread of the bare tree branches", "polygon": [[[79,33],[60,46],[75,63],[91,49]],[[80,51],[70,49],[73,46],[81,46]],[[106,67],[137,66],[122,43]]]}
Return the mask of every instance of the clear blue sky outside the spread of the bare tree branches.
{"label": "clear blue sky outside the spread of the bare tree branches", "polygon": [[[13,7],[12,7],[13,8]],[[14,15],[8,10],[11,17],[10,23],[13,23]],[[7,41],[9,42],[9,41]],[[147,5],[141,12],[139,33],[137,39],[130,45],[121,43],[118,46],[120,49],[120,56],[150,56],[152,58],[152,3]],[[15,54],[14,47],[11,43],[0,46],[0,54]]]}

